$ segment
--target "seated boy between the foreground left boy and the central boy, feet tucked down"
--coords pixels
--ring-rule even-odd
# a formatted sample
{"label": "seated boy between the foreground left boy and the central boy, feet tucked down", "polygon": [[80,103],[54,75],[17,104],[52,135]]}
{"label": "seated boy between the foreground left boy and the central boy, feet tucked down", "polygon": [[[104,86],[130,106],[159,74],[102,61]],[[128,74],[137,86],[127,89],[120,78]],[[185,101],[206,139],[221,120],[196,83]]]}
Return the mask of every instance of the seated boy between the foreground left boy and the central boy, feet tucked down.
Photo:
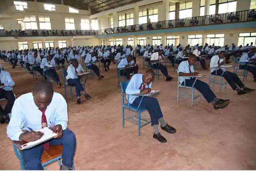
{"label": "seated boy between the foreground left boy and the central boy, feet tucked down", "polygon": [[82,95],[85,96],[86,99],[91,98],[86,92],[85,89],[83,88],[80,78],[77,76],[77,74],[81,74],[84,72],[84,69],[82,66],[78,63],[77,60],[73,60],[72,64],[68,66],[68,75],[66,76],[66,79],[68,81],[68,84],[70,85],[75,85],[75,90],[76,90],[76,97],[77,97],[77,104],[81,104],[81,92]]}

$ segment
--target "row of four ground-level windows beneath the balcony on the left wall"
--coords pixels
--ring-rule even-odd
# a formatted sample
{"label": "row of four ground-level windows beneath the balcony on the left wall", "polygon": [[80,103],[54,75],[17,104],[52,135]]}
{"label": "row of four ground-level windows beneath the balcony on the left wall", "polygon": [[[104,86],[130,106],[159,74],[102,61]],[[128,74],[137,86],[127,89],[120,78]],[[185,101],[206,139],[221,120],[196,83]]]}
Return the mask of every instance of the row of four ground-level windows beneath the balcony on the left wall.
{"label": "row of four ground-level windows beneath the balcony on the left wall", "polygon": [[[43,47],[43,42],[33,42],[33,48],[34,49],[43,49],[43,48],[54,48],[54,42],[53,41],[45,41],[44,42],[44,47]],[[65,48],[66,47],[66,41],[65,40],[60,40],[58,41],[58,47],[59,48]],[[24,50],[28,49],[28,42],[18,42],[18,49],[19,50]]]}

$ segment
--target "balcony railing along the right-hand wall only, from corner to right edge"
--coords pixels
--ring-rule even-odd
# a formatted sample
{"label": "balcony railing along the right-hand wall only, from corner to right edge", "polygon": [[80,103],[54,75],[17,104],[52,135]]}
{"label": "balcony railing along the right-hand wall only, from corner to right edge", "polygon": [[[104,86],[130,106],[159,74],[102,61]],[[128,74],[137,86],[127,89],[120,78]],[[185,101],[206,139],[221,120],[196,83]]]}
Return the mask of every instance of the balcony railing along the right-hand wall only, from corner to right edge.
{"label": "balcony railing along the right-hand wall only, from corner to right edge", "polygon": [[236,23],[236,22],[248,22],[256,21],[256,11],[245,10],[231,13],[223,13],[217,15],[207,15],[190,17],[176,20],[159,21],[152,23],[144,23],[137,25],[130,25],[124,27],[115,27],[102,29],[102,34],[113,34],[113,33],[124,33],[124,32],[137,32],[137,31],[148,31],[155,29],[170,29],[180,27],[192,27],[192,26],[205,26],[205,25],[216,25],[224,23]]}

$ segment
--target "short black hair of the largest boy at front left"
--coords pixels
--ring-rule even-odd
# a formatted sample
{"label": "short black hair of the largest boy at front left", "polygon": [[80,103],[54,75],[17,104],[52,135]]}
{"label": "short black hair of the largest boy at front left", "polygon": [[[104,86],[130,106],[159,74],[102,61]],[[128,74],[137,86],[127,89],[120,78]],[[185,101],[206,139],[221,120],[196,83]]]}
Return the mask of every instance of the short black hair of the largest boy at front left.
{"label": "short black hair of the largest boy at front left", "polygon": [[34,92],[34,94],[42,93],[44,95],[53,95],[53,86],[52,83],[41,80],[38,81],[36,85],[34,85],[32,91]]}

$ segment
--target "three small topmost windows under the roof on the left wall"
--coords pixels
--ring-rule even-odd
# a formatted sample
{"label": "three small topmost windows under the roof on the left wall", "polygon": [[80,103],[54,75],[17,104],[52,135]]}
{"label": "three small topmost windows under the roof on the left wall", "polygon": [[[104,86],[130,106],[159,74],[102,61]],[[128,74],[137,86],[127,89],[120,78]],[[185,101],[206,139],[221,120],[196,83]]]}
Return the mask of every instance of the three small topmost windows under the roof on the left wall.
{"label": "three small topmost windows under the roof on the left wall", "polygon": [[[19,10],[19,11],[24,11],[24,9],[28,9],[27,2],[14,1],[14,5],[16,7],[16,10]],[[44,10],[56,11],[56,7],[54,4],[44,4]],[[69,7],[69,12],[70,13],[79,13],[79,10]]]}

